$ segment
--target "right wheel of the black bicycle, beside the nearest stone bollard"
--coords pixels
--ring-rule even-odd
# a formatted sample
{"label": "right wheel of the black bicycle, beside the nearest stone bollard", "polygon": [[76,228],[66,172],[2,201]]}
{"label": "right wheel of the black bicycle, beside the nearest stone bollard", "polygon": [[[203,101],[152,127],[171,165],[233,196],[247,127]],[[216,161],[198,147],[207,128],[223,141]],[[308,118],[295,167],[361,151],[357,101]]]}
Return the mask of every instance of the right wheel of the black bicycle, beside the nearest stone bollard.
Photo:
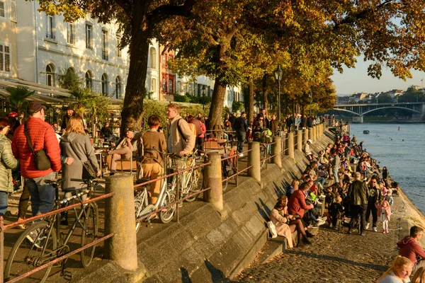
{"label": "right wheel of the black bicycle, beside the nearest stone bollard", "polygon": [[[90,203],[86,208],[86,219],[84,219],[84,229],[81,231],[81,247],[96,241],[98,233],[98,209],[96,204]],[[84,214],[83,214],[84,216]],[[81,250],[81,264],[88,267],[93,260],[96,245]]]}

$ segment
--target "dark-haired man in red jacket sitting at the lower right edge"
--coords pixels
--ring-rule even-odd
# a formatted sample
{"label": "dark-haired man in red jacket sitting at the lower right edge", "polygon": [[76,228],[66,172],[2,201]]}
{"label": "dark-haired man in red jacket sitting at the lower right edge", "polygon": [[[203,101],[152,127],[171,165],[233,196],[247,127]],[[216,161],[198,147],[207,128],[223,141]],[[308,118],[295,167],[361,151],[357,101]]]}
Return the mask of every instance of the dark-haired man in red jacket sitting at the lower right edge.
{"label": "dark-haired man in red jacket sitting at the lower right edge", "polygon": [[399,255],[409,258],[414,263],[412,274],[419,267],[425,267],[425,250],[417,243],[422,236],[424,236],[424,229],[419,226],[412,226],[409,236],[405,236],[402,241],[397,243],[400,249]]}

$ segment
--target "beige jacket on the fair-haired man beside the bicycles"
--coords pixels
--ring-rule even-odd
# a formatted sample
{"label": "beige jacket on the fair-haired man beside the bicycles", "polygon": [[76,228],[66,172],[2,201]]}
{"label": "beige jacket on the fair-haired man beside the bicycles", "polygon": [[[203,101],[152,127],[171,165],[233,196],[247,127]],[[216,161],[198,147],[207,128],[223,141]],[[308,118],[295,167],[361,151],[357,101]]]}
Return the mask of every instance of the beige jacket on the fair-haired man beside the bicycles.
{"label": "beige jacket on the fair-haired man beside the bicycles", "polygon": [[[184,137],[181,137],[179,129],[177,128],[177,123],[179,123],[181,132],[183,133]],[[171,120],[171,125],[167,131],[167,134],[167,147],[169,152],[179,154],[180,151],[184,151],[186,154],[189,154],[191,151],[193,151],[196,137],[191,131],[188,122],[183,120],[180,115],[176,115],[176,117]]]}

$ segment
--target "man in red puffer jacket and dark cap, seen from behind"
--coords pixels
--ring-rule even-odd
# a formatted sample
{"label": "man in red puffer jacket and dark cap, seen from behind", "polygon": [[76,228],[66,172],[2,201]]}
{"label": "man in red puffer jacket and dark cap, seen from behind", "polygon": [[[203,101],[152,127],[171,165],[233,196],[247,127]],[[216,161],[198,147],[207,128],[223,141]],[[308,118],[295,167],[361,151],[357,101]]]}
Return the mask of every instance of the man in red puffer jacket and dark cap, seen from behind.
{"label": "man in red puffer jacket and dark cap, seen from behind", "polygon": [[60,171],[60,147],[55,130],[45,122],[45,106],[31,101],[28,105],[28,135],[34,151],[43,149],[50,159],[50,168],[38,170],[35,167],[35,158],[24,132],[24,125],[19,126],[13,133],[12,151],[15,158],[21,162],[21,173],[25,178],[28,191],[31,195],[31,210],[33,216],[50,212],[55,203],[55,189],[47,185],[45,180],[55,178],[55,172]]}

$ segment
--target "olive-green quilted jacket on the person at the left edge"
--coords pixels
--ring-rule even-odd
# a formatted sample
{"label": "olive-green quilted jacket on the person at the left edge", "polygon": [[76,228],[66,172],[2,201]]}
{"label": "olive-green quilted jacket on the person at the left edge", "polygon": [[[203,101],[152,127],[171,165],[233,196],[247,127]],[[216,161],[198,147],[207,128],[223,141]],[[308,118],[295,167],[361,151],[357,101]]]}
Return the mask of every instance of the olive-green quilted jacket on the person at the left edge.
{"label": "olive-green quilted jacket on the person at the left edge", "polygon": [[18,167],[18,160],[13,156],[11,142],[0,134],[0,192],[13,192],[12,171]]}

